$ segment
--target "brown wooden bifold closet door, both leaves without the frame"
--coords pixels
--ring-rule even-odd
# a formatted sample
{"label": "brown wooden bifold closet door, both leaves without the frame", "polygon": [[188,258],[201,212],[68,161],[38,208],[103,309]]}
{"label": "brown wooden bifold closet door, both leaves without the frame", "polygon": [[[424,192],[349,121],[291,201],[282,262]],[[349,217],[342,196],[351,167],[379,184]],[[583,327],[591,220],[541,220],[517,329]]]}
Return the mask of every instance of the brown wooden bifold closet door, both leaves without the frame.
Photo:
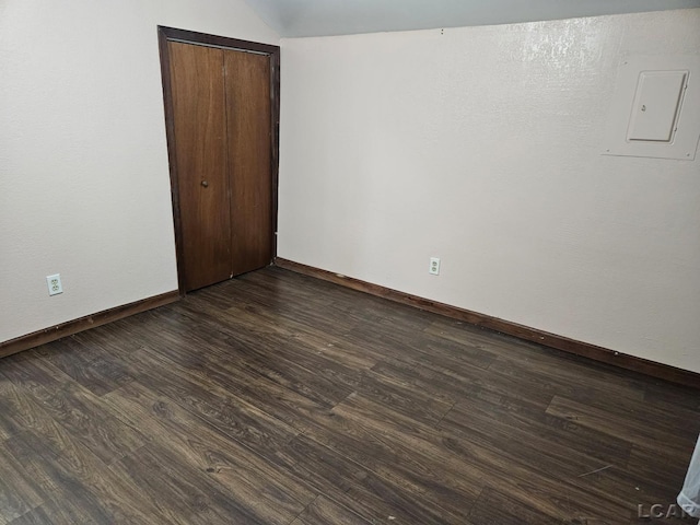
{"label": "brown wooden bifold closet door, both leaves without the frame", "polygon": [[168,42],[185,291],[272,259],[270,57]]}

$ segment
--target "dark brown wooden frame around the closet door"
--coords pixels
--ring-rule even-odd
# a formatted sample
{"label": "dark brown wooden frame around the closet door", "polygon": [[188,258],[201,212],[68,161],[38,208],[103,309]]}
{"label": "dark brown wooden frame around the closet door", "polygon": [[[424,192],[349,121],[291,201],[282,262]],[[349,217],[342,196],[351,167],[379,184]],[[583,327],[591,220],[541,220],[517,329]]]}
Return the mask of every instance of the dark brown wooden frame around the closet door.
{"label": "dark brown wooden frame around the closet door", "polygon": [[[174,27],[158,26],[158,42],[161,57],[161,80],[163,83],[163,105],[165,109],[165,135],[167,138],[167,160],[171,174],[171,196],[173,199],[173,225],[175,230],[175,257],[177,260],[177,288],[180,296],[185,295],[185,258],[183,246],[183,230],[179,206],[178,172],[175,155],[175,125],[173,114],[173,86],[171,83],[171,60],[168,42],[180,42],[207,47],[219,47],[240,51],[258,52],[270,57],[270,117],[272,137],[270,140],[270,173],[272,176],[272,260],[277,256],[277,195],[279,180],[279,136],[280,136],[280,47],[271,44],[240,40],[226,36],[215,36]],[[271,260],[271,261],[272,261]],[[270,262],[271,262],[270,261]]]}

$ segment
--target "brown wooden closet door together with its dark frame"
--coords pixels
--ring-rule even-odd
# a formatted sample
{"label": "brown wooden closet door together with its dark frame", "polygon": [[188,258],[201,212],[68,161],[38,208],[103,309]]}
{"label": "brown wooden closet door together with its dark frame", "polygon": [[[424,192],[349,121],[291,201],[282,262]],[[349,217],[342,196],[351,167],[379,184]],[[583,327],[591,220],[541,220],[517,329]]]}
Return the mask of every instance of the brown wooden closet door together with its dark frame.
{"label": "brown wooden closet door together with its dark frame", "polygon": [[[209,68],[211,70],[207,71],[206,60],[198,67],[192,61],[179,60],[172,56],[173,46],[177,46],[176,49],[189,46],[219,52],[222,56],[221,70]],[[276,253],[280,48],[159,26],[159,49],[178,289],[184,295],[186,291],[206,285],[203,283],[265,267]],[[203,55],[191,49],[189,52]],[[177,73],[175,68],[178,68]],[[213,73],[213,77],[205,77],[207,73]],[[183,89],[188,96],[180,96],[177,102],[177,92]],[[212,100],[212,90],[223,90],[224,93],[222,112],[214,115],[210,108],[212,104],[219,104],[219,96],[215,93]],[[222,118],[224,132],[220,133]],[[199,126],[191,126],[195,121]],[[223,144],[212,143],[214,139],[221,139]],[[212,147],[218,151],[211,151]],[[215,167],[218,174],[221,166],[226,176],[226,191],[223,194],[217,176],[211,177],[213,183],[209,177],[199,176],[206,172],[200,171],[194,177],[195,182],[187,180],[192,178],[192,168]],[[206,182],[206,187],[201,186],[202,182]],[[196,188],[197,184],[201,187]],[[207,189],[208,192],[203,191]],[[223,207],[226,199],[228,206]],[[209,212],[202,215],[200,212],[206,208]],[[226,217],[222,219],[224,214]],[[229,268],[222,277],[224,234],[229,238],[225,247]],[[190,270],[197,275],[189,277]],[[211,280],[213,276],[218,276],[215,281]]]}

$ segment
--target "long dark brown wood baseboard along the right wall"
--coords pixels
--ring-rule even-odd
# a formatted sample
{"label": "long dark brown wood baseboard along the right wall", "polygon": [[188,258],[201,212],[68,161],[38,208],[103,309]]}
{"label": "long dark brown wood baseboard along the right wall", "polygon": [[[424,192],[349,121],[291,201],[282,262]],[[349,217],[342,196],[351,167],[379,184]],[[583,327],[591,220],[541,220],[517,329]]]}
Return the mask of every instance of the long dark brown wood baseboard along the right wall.
{"label": "long dark brown wood baseboard along the right wall", "polygon": [[380,298],[388,299],[401,304],[408,304],[417,308],[441,314],[446,317],[463,320],[471,325],[481,326],[491,330],[500,331],[509,336],[515,336],[520,339],[527,341],[538,342],[540,345],[563,350],[565,352],[574,353],[576,355],[583,355],[604,363],[614,364],[622,369],[640,372],[642,374],[658,377],[661,380],[669,381],[672,383],[691,386],[700,388],[700,374],[690,372],[688,370],[677,369],[663,363],[656,363],[634,355],[629,355],[607,348],[598,347],[568,337],[558,336],[548,331],[538,330],[537,328],[530,328],[528,326],[518,325],[509,320],[492,317],[490,315],[479,314],[448,304],[439,303],[436,301],[430,301],[428,299],[418,298],[408,293],[399,292],[388,288],[381,287],[378,284],[372,284],[370,282],[346,277],[331,271],[322,270],[312,266],[302,265],[291,260],[276,258],[275,265],[280,268],[285,268],[298,273],[315,277],[325,281],[335,282],[346,288],[359,290],[361,292],[370,293]]}

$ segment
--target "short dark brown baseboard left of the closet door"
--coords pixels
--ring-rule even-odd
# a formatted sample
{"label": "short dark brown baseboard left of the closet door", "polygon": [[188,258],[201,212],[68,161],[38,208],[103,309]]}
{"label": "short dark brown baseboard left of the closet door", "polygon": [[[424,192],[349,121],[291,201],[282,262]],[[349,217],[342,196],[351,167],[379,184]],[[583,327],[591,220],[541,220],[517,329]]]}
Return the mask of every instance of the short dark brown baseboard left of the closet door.
{"label": "short dark brown baseboard left of the closet door", "polygon": [[38,347],[39,345],[46,345],[47,342],[55,341],[61,337],[71,336],[79,331],[95,328],[101,325],[106,325],[114,320],[129,317],[130,315],[145,312],[147,310],[156,308],[165,304],[174,303],[179,299],[179,292],[174,290],[172,292],[162,293],[152,298],[136,301],[135,303],[124,304],[115,308],[105,310],[96,314],[86,315],[79,319],[61,323],[60,325],[45,328],[43,330],[27,334],[15,339],[10,339],[5,342],[0,342],[0,358],[11,355],[13,353],[28,350],[30,348]]}

